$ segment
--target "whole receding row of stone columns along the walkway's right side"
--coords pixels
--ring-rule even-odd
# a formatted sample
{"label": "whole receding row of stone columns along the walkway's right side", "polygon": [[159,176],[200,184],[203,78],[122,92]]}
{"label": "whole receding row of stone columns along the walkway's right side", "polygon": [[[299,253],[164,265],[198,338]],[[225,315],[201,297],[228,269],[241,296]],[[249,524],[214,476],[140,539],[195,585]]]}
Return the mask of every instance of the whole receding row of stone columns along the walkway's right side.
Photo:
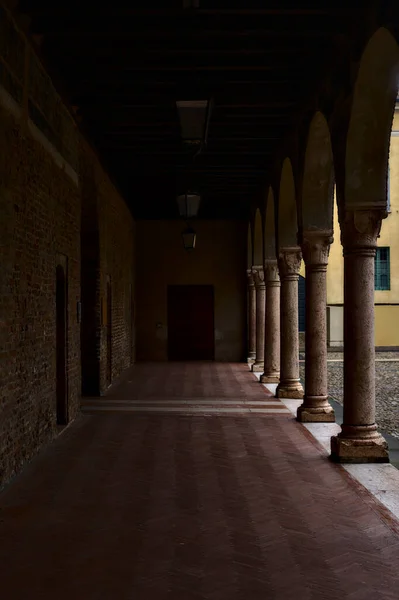
{"label": "whole receding row of stone columns along the walkway's right side", "polygon": [[[384,217],[380,210],[346,211],[344,254],[344,417],[331,439],[338,462],[387,462],[375,423],[374,256]],[[303,399],[301,422],[334,422],[328,402],[326,271],[333,234],[304,231],[297,246],[248,269],[249,351],[261,382],[277,383],[279,398]],[[305,390],[299,378],[298,279],[306,269]]]}

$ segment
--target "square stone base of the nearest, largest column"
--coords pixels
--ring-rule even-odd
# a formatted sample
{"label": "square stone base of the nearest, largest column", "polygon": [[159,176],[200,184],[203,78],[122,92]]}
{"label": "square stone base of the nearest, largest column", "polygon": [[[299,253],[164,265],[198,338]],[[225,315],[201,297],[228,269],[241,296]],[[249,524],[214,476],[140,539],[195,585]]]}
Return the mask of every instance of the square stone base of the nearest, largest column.
{"label": "square stone base of the nearest, largest column", "polygon": [[388,444],[378,432],[358,438],[340,433],[331,438],[330,458],[339,463],[388,463]]}

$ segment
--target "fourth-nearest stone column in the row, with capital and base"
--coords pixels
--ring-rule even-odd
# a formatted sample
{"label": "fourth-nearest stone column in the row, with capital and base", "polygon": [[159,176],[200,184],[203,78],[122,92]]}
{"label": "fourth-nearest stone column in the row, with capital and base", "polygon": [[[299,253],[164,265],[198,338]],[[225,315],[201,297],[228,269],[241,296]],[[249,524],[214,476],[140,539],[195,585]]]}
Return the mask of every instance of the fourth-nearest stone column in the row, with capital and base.
{"label": "fourth-nearest stone column in the row, with capital and base", "polygon": [[265,368],[262,383],[280,381],[280,278],[277,260],[265,260]]}

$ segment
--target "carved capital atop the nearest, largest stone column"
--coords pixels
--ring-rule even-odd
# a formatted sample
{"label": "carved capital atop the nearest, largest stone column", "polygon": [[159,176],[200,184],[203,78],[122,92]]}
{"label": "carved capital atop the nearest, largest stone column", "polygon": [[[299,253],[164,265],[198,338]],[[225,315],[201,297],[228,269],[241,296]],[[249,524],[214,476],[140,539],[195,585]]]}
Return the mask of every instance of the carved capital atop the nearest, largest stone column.
{"label": "carved capital atop the nearest, largest stone column", "polygon": [[374,256],[382,219],[385,217],[386,212],[379,208],[345,210],[340,220],[341,243],[344,247],[344,255]]}

